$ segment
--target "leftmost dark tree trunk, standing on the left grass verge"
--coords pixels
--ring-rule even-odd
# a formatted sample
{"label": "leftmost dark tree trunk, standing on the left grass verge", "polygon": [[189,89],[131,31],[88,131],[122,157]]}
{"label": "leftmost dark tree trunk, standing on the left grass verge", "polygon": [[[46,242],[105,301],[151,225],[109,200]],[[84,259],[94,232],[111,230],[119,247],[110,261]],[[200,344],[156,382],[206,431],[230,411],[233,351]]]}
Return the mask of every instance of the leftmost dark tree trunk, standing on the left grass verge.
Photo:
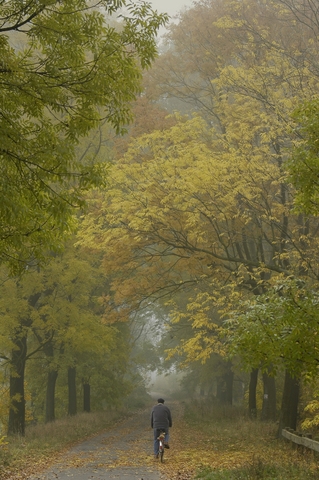
{"label": "leftmost dark tree trunk, standing on the left grass verge", "polygon": [[27,356],[27,337],[17,335],[14,339],[10,367],[10,408],[8,435],[25,434],[24,372]]}

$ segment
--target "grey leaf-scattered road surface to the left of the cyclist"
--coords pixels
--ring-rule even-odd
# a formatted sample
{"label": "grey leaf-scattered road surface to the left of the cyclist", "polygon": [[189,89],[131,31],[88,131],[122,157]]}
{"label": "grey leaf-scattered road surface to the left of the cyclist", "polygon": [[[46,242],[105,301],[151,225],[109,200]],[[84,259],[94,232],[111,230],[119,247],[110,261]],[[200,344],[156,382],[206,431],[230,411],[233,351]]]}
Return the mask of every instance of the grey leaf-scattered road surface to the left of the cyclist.
{"label": "grey leaf-scattered road surface to the left of the cyclist", "polygon": [[[166,453],[166,452],[165,452]],[[168,455],[169,456],[169,453]],[[150,411],[122,420],[62,454],[28,480],[165,480],[153,455]]]}

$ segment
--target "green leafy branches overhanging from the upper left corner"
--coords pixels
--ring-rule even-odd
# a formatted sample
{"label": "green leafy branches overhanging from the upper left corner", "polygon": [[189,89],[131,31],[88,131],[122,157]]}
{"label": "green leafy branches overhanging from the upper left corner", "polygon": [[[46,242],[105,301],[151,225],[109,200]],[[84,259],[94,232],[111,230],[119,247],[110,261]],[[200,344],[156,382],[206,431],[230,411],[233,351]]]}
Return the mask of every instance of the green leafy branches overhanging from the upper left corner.
{"label": "green leafy branches overhanging from the upper left corner", "polygon": [[31,0],[0,6],[0,261],[15,272],[59,250],[74,208],[101,184],[99,165],[76,156],[102,119],[121,131],[156,55],[165,20],[128,3],[116,30],[107,16],[125,2]]}

